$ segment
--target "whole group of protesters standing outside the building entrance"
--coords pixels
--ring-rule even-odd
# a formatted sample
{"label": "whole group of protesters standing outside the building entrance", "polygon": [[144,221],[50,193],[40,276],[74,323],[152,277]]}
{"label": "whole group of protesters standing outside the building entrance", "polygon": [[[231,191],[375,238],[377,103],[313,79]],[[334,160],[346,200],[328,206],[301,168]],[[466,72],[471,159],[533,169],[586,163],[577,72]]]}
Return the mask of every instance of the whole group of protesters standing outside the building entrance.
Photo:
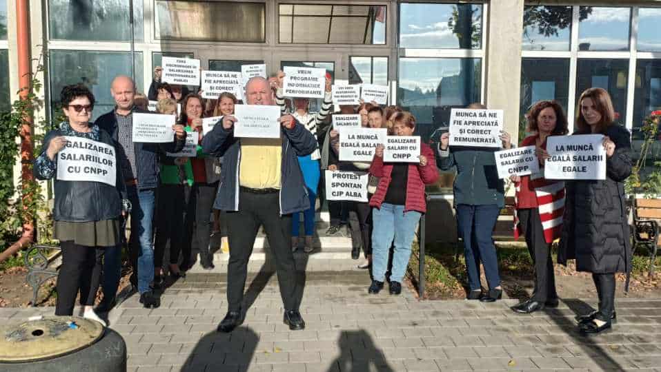
{"label": "whole group of protesters standing outside the building entrance", "polygon": [[[72,315],[79,294],[83,316],[103,322],[93,309],[96,293],[101,286],[103,300],[97,311],[115,306],[124,228],[130,220],[131,283],[146,308],[160,306],[159,290],[166,273],[175,279],[186,276],[197,259],[192,247],[199,251],[201,267],[213,269],[210,236],[221,234],[222,249],[229,253],[228,312],[218,330],[230,332],[243,322],[248,260],[262,226],[276,263],[283,320],[290,329],[303,329],[293,253],[301,243],[306,254],[314,250],[315,211],[325,169],[369,174],[367,202],[328,200],[330,227],[326,234],[344,234],[348,229],[352,258],[359,258],[361,247],[366,258],[357,267],[371,269],[368,293],[379,293],[388,282],[389,292],[398,295],[417,224],[426,212],[425,187],[436,182],[438,168],[456,167],[454,204],[466,258],[466,298],[483,302],[501,298],[491,237],[504,207],[504,183],[495,172],[493,152],[497,149],[450,146],[450,134],[445,133],[438,143],[422,143],[420,156],[412,163],[384,161],[383,145],[377,145],[371,162],[341,161],[339,134],[328,124],[333,116],[328,74],[319,111],[310,113],[309,99],[283,95],[283,72],[269,79],[249,79],[240,102],[230,92],[203,99],[200,92],[161,83],[161,71],[155,69],[148,96],[137,94],[135,83],[127,76],[117,76],[111,84],[116,106],[94,123],[95,97],[87,87],[68,85],[61,92],[66,120],[46,135],[43,151],[34,162],[37,178],[55,179],[55,238],[60,240],[63,254],[56,315]],[[170,142],[133,141],[132,115],[147,113],[148,101],[157,101],[159,114],[177,114]],[[279,105],[279,138],[234,136],[238,103]],[[614,274],[629,272],[631,267],[622,187],[631,172],[631,143],[627,130],[613,125],[613,105],[606,91],[586,90],[579,106],[575,134],[604,134],[606,180],[563,183],[546,180],[543,172],[511,177],[516,188],[515,234],[525,237],[535,262],[531,300],[513,310],[531,313],[558,305],[551,243],[560,238],[558,260],[575,258],[578,270],[593,273],[599,309],[578,321],[582,331],[599,332],[611,327],[615,319]],[[477,103],[468,108],[486,109]],[[375,102],[340,105],[339,114],[359,114],[362,127],[386,128],[391,136],[413,136],[416,128],[411,112]],[[202,118],[207,116],[220,118],[204,133]],[[526,117],[531,135],[520,145],[535,146],[543,169],[549,158],[546,139],[566,135],[567,118],[555,101],[536,103]],[[198,136],[197,156],[168,156],[184,149],[190,132]],[[115,149],[114,187],[57,176],[58,153],[72,138]],[[500,141],[504,149],[512,147],[506,132],[501,133]],[[301,214],[304,238],[299,240]],[[164,267],[168,244],[169,262]],[[486,291],[480,282],[480,265],[486,274]]]}

